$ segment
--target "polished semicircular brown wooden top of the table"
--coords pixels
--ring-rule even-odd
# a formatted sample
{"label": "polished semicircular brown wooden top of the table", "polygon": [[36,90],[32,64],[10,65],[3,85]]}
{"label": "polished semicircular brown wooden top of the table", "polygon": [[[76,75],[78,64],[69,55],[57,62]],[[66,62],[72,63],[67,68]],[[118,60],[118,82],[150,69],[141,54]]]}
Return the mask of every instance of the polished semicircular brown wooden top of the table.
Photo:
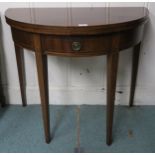
{"label": "polished semicircular brown wooden top of the table", "polygon": [[[127,27],[144,22],[148,17],[148,9],[144,7],[10,8],[6,11],[5,17],[10,25],[21,27],[24,24],[35,32],[39,32],[39,28],[44,30],[55,28],[55,33],[58,33],[59,28],[70,31],[81,31],[87,27],[115,30],[114,28],[118,29],[120,26]],[[93,29],[91,30],[93,33]]]}

